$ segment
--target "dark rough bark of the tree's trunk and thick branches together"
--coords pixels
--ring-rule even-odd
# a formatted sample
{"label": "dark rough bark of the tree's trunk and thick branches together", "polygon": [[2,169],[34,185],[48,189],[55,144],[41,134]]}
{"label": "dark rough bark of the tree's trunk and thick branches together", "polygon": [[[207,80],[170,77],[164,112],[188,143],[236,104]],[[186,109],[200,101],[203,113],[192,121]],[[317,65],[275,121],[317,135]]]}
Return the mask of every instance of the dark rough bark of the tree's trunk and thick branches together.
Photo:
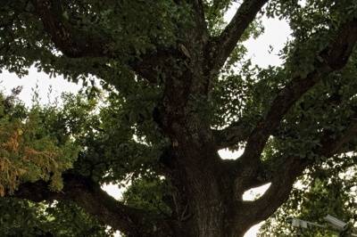
{"label": "dark rough bark of the tree's trunk and thick branches together", "polygon": [[[175,188],[170,203],[172,217],[156,217],[144,210],[129,208],[101,191],[99,184],[79,176],[65,176],[64,189],[58,193],[49,192],[44,182],[23,184],[15,193],[17,197],[34,201],[72,200],[104,224],[137,237],[243,236],[249,227],[270,217],[286,201],[296,177],[309,164],[303,159],[288,157],[284,160],[284,168],[266,174],[269,170],[261,160],[262,150],[295,102],[321,78],[345,66],[357,40],[357,20],[345,22],[340,27],[335,40],[318,55],[314,69],[306,77],[290,79],[256,127],[245,127],[237,122],[227,129],[213,131],[210,118],[204,112],[211,109],[212,77],[217,76],[229,53],[267,1],[244,1],[220,37],[211,41],[205,30],[202,2],[189,2],[197,15],[195,27],[187,31],[186,40],[179,42],[175,49],[147,53],[140,61],[130,61],[128,65],[152,83],[165,75],[162,102],[157,106],[154,120],[162,128],[163,135],[170,138],[170,147],[161,161],[164,175]],[[80,32],[65,24],[61,8],[55,6],[55,1],[33,0],[32,3],[46,33],[66,56],[115,56],[115,52],[107,49],[110,40],[106,37],[91,36],[83,42],[76,41]],[[351,122],[345,135],[337,139],[328,137],[317,152],[321,156],[333,155],[352,139],[356,130]],[[220,159],[218,149],[241,141],[246,141],[247,145],[240,159]],[[271,183],[270,189],[260,199],[242,200],[247,189],[267,183]]]}

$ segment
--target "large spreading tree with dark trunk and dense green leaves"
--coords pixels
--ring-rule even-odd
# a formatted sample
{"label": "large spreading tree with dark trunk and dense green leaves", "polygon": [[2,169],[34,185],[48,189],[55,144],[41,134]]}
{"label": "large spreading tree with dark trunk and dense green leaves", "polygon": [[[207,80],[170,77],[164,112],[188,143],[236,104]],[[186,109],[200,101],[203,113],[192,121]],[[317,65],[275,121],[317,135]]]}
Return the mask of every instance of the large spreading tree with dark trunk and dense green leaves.
{"label": "large spreading tree with dark trunk and dense green leaves", "polygon": [[[3,96],[0,194],[37,217],[34,234],[83,236],[88,227],[55,227],[81,221],[97,235],[109,225],[127,236],[243,236],[293,189],[296,199],[334,180],[340,192],[355,186],[327,173],[353,176],[355,164],[355,0],[3,0],[0,11],[2,69],[92,83],[59,107]],[[281,66],[245,57],[262,16],[292,29]],[[220,159],[221,149],[244,152]],[[314,188],[296,189],[301,177]],[[123,200],[101,190],[125,180]],[[243,200],[262,184],[262,197]],[[353,202],[347,194],[341,203]]]}

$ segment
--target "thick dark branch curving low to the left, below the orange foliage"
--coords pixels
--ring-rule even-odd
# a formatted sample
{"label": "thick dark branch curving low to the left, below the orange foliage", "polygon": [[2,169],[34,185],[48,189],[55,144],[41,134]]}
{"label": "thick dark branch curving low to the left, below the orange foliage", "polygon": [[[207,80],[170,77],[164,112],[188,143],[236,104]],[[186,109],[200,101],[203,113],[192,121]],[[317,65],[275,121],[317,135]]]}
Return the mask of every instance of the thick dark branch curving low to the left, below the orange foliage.
{"label": "thick dark branch curving low to the left, below the orange foliage", "polygon": [[[162,236],[157,235],[158,233],[149,235],[142,233],[142,230],[145,229],[143,226],[148,225],[145,219],[153,219],[151,214],[137,208],[130,208],[113,199],[101,189],[99,184],[95,184],[88,178],[67,174],[63,176],[63,183],[64,187],[61,192],[49,191],[48,184],[44,181],[21,184],[14,196],[33,201],[71,200],[105,225],[111,225],[122,233],[128,233],[129,236]],[[161,228],[161,226],[165,226],[163,221],[161,224],[153,223],[153,225],[158,228],[157,232],[165,233]]]}

